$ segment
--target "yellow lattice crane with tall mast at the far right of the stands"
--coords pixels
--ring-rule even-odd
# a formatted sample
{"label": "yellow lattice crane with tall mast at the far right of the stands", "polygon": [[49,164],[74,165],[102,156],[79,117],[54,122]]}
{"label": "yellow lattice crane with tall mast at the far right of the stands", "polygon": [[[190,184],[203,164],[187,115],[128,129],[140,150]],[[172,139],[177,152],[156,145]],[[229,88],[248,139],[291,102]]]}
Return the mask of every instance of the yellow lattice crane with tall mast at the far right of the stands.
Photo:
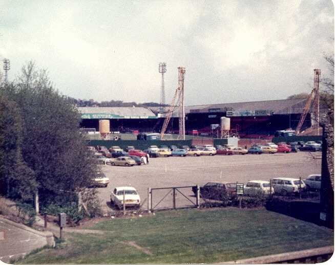
{"label": "yellow lattice crane with tall mast at the far right of the stands", "polygon": [[[320,95],[319,95],[319,83],[320,83],[320,75],[321,70],[314,69],[314,87],[312,89],[312,92],[309,94],[306,105],[304,106],[303,113],[300,117],[298,126],[296,128],[296,134],[300,134],[300,130],[302,128],[302,125],[304,124],[304,121],[306,119],[306,116],[309,112],[310,107],[312,106],[311,113],[314,115],[314,119],[316,120],[316,128],[317,128],[317,135],[319,135],[319,121],[320,121]],[[313,125],[311,126],[313,127]]]}

